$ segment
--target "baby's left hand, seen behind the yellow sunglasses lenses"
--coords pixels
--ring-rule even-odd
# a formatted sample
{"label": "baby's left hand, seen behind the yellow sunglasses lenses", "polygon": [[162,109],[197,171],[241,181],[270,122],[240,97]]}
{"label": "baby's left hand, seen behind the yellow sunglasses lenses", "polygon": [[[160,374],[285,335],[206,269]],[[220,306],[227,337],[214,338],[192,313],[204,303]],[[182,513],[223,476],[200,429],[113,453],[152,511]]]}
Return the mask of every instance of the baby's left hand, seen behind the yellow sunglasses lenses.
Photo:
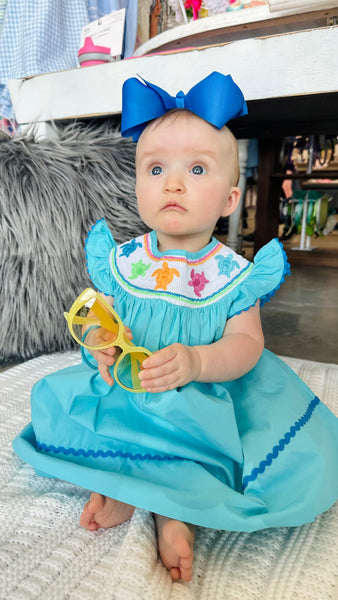
{"label": "baby's left hand, seen behind the yellow sunglasses lenses", "polygon": [[[129,327],[124,328],[124,332],[129,340],[133,339],[133,334]],[[88,339],[89,338],[89,339]],[[93,329],[89,332],[86,342],[90,346],[95,346],[96,344],[102,344],[108,340],[114,341],[116,339],[116,335],[103,327],[99,329]],[[113,366],[116,362],[121,350],[116,346],[111,346],[110,348],[105,348],[104,350],[91,350],[91,355],[97,360],[97,366],[99,369],[99,373],[108,385],[114,385],[114,379],[110,374],[109,368]]]}

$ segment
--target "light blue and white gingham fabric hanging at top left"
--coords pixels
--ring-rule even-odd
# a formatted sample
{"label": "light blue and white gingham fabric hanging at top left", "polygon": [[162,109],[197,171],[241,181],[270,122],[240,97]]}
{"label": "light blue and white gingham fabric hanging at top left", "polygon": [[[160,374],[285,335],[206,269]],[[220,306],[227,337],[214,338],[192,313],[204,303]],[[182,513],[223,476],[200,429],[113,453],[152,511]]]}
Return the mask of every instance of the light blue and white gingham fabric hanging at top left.
{"label": "light blue and white gingham fabric hanging at top left", "polygon": [[0,116],[15,119],[8,80],[76,68],[82,28],[114,9],[126,8],[124,57],[131,56],[137,6],[137,0],[7,0],[0,21]]}

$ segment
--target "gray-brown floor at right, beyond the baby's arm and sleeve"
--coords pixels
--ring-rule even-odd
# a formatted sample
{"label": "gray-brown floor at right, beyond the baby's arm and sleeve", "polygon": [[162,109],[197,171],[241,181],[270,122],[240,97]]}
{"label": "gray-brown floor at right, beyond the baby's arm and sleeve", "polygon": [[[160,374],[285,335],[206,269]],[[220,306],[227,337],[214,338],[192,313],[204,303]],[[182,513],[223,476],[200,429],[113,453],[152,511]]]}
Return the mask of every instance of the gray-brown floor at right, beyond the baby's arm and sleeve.
{"label": "gray-brown floor at right, beyond the baby's arm and sleeve", "polygon": [[291,264],[262,308],[265,346],[283,356],[338,364],[338,270]]}

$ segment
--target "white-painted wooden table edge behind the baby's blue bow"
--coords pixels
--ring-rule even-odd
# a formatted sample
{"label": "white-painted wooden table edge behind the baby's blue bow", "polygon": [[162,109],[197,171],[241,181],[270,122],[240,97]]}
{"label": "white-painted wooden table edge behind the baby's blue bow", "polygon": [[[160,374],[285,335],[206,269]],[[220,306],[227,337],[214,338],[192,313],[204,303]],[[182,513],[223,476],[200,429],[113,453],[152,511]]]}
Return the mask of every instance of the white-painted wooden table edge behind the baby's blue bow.
{"label": "white-painted wooden table edge behind the baby's blue bow", "polygon": [[156,75],[158,85],[176,94],[177,86],[187,91],[218,70],[232,74],[249,102],[264,103],[255,117],[264,122],[270,100],[338,92],[337,47],[332,26],[23,77],[9,89],[18,123],[27,124],[119,114],[122,85],[137,74],[150,81]]}

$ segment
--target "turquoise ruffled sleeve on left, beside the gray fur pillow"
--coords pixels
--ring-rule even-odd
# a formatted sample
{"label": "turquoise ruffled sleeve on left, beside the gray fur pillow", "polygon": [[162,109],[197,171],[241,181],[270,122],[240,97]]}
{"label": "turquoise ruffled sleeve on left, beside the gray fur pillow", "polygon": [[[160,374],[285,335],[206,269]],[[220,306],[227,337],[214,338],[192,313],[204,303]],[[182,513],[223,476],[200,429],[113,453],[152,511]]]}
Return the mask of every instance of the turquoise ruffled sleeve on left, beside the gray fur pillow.
{"label": "turquoise ruffled sleeve on left, beside the gray fur pillow", "polygon": [[107,296],[114,296],[115,279],[110,261],[116,242],[104,219],[91,228],[85,245],[87,269],[94,286]]}

